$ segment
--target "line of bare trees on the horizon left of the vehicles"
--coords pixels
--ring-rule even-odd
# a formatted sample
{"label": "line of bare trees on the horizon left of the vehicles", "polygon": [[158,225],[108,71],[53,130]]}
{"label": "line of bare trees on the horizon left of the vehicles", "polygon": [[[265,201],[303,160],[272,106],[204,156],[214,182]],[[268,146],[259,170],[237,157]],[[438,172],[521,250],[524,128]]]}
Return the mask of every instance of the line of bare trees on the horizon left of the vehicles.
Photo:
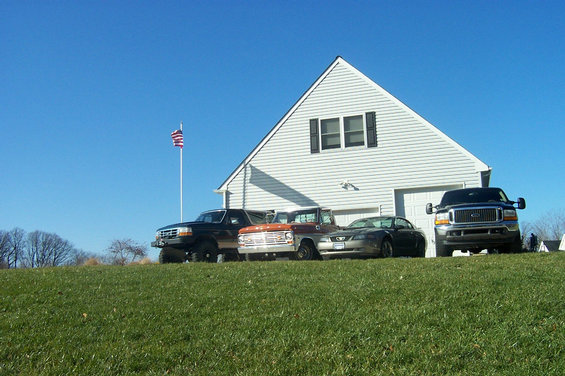
{"label": "line of bare trees on the horizon left of the vehicles", "polygon": [[113,240],[106,248],[106,254],[101,256],[77,249],[55,233],[27,233],[21,228],[0,230],[0,269],[83,265],[92,259],[127,265],[146,256],[147,248],[131,239]]}

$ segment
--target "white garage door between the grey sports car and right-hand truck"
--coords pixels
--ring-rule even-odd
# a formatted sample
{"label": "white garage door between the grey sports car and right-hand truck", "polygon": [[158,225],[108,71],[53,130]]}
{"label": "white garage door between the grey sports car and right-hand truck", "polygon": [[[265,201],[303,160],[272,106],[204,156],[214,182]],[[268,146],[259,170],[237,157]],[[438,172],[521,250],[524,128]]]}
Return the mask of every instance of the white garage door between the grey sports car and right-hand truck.
{"label": "white garage door between the grey sports car and right-hand truck", "polygon": [[426,214],[426,204],[428,202],[439,204],[444,192],[457,188],[461,188],[461,185],[401,189],[394,193],[396,215],[407,218],[414,226],[426,233],[428,240],[426,257],[436,256],[434,215]]}

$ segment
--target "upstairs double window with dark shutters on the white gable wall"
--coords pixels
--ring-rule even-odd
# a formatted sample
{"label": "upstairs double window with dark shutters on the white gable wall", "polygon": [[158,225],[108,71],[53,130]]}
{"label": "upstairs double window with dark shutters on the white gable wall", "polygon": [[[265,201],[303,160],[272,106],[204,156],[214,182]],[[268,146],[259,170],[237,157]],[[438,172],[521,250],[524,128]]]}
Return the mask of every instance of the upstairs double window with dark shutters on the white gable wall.
{"label": "upstairs double window with dark shutters on the white gable wall", "polygon": [[343,149],[355,146],[377,146],[375,112],[365,116],[344,116],[331,119],[310,119],[310,151]]}

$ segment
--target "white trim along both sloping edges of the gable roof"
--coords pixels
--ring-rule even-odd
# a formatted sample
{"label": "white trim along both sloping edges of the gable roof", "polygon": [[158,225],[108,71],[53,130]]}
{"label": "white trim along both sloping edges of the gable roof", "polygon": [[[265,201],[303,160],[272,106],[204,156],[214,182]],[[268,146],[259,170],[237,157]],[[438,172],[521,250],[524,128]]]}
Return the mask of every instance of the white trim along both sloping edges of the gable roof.
{"label": "white trim along both sloping edges of the gable roof", "polygon": [[367,82],[369,85],[371,85],[373,88],[375,88],[377,91],[380,91],[383,95],[385,95],[386,97],[388,97],[392,102],[394,102],[395,104],[397,104],[399,107],[401,107],[402,109],[404,109],[407,113],[411,114],[412,116],[414,116],[416,119],[418,119],[420,122],[422,122],[423,124],[425,124],[427,127],[429,127],[430,129],[432,129],[436,134],[438,134],[440,137],[444,138],[445,140],[447,140],[449,143],[451,143],[456,149],[458,149],[460,152],[462,152],[463,154],[465,154],[467,157],[471,158],[472,160],[474,160],[475,162],[475,168],[477,171],[482,171],[485,172],[487,174],[487,176],[490,174],[490,170],[491,168],[486,165],[484,162],[482,162],[480,159],[478,159],[477,157],[475,157],[473,154],[471,154],[469,151],[467,151],[465,148],[463,148],[461,145],[459,145],[457,142],[455,142],[453,139],[451,139],[449,136],[447,136],[445,133],[443,133],[442,131],[440,131],[438,128],[436,128],[434,125],[432,125],[431,123],[429,123],[427,120],[425,120],[423,117],[421,117],[420,115],[418,115],[415,111],[413,111],[411,108],[409,108],[408,106],[406,106],[404,103],[402,103],[400,100],[398,100],[396,97],[394,97],[392,94],[390,94],[388,91],[386,91],[385,89],[383,89],[381,86],[379,86],[377,83],[375,83],[373,80],[371,80],[370,78],[368,78],[367,76],[365,76],[363,73],[361,73],[359,70],[357,70],[357,68],[355,68],[354,66],[352,66],[351,64],[349,64],[347,61],[345,61],[345,59],[343,59],[341,56],[337,56],[335,58],[335,60],[326,68],[326,70],[320,75],[320,77],[318,77],[318,79],[316,79],[316,81],[314,81],[314,83],[308,88],[308,90],[306,90],[306,92],[304,94],[302,94],[302,96],[298,99],[298,101],[286,112],[286,114],[277,122],[277,124],[275,124],[275,126],[269,131],[269,133],[267,133],[267,135],[265,137],[263,137],[263,139],[259,142],[259,144],[257,144],[257,146],[255,146],[255,148],[251,151],[251,153],[249,153],[247,155],[247,157],[245,157],[245,159],[236,167],[236,169],[228,176],[228,178],[218,187],[217,190],[215,190],[215,192],[217,193],[221,193],[223,191],[225,191],[227,189],[227,185],[237,176],[237,174],[239,174],[239,172],[243,169],[243,167],[245,167],[245,165],[247,163],[249,163],[253,157],[263,148],[263,146],[269,142],[269,140],[273,137],[273,135],[275,133],[277,133],[277,131],[279,130],[280,127],[282,127],[282,125],[287,121],[287,119],[292,116],[292,114],[302,105],[302,103],[310,96],[310,94],[320,85],[320,83],[328,76],[328,74],[330,74],[330,72],[338,65],[341,64],[343,66],[345,66],[346,68],[348,68],[351,72],[353,72],[355,75],[357,75],[359,78],[361,78],[362,80],[364,80],[365,82]]}

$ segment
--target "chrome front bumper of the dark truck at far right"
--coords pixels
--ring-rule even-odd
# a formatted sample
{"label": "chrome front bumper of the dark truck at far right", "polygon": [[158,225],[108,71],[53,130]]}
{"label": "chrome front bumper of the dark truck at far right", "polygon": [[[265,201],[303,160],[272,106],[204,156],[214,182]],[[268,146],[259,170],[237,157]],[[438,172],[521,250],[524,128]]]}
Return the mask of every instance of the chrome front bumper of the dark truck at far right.
{"label": "chrome front bumper of the dark truck at far right", "polygon": [[436,243],[451,249],[487,249],[511,247],[520,239],[518,223],[496,225],[445,225],[435,228]]}

